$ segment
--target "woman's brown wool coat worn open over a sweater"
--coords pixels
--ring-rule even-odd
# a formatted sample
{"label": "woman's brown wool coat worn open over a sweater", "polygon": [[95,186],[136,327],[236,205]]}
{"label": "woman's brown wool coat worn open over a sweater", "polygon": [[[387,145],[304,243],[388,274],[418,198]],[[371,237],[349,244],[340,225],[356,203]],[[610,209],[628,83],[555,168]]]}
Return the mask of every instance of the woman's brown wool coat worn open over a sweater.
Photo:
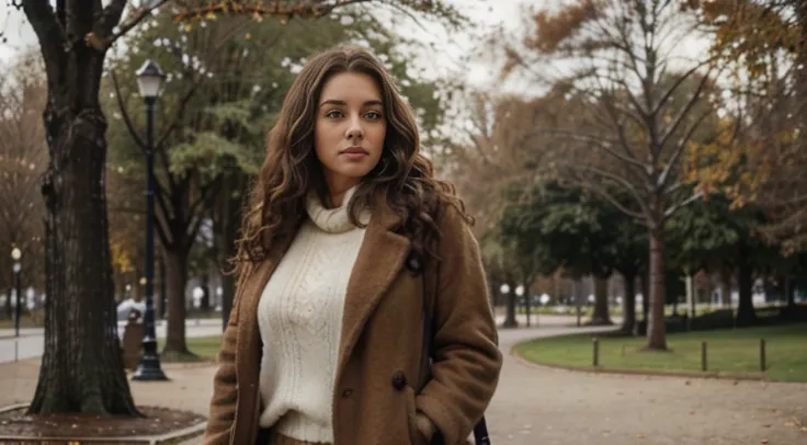
{"label": "woman's brown wool coat worn open over a sweater", "polygon": [[[373,212],[344,304],[333,395],[334,445],[420,445],[416,409],[446,445],[464,443],[501,368],[479,247],[458,212],[441,218],[442,261],[427,264],[434,323],[432,379],[416,397],[422,350],[422,275],[406,266],[410,241],[386,206]],[[261,338],[255,311],[284,252],[254,267],[236,292],[218,355],[205,444],[251,445],[259,430]],[[425,445],[425,444],[423,444]]]}

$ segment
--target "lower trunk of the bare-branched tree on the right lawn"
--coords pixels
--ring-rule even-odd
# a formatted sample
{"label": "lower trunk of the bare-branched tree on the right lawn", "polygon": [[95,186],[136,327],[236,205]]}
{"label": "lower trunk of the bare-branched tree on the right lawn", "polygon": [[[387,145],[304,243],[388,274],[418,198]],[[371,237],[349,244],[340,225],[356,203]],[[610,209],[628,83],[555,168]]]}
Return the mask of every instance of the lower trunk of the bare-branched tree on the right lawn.
{"label": "lower trunk of the bare-branched tree on the right lawn", "polygon": [[664,231],[650,231],[650,319],[647,327],[648,350],[667,351],[664,326]]}

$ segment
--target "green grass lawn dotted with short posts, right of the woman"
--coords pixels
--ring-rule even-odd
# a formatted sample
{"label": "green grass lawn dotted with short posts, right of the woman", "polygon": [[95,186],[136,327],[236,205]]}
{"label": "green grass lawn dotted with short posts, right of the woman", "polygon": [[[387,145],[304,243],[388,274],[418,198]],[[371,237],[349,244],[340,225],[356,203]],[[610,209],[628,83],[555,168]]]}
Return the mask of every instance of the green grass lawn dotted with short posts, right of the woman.
{"label": "green grass lawn dotted with short posts, right of the woman", "polygon": [[[544,364],[592,368],[592,334],[538,339],[518,344],[524,358]],[[600,368],[648,372],[701,372],[701,343],[707,343],[707,370],[727,376],[762,376],[760,339],[766,343],[771,381],[807,383],[807,323],[668,334],[670,352],[643,352],[644,338],[601,335]]]}

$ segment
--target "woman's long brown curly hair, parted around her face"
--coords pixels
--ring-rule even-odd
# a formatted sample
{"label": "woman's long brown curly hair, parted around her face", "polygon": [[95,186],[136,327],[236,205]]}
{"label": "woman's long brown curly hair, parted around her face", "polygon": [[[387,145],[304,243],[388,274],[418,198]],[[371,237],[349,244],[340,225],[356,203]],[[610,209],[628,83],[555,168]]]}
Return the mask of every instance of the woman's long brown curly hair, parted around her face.
{"label": "woman's long brown curly hair, parted around her face", "polygon": [[340,47],[306,64],[289,88],[281,114],[266,140],[266,158],[258,174],[237,241],[236,273],[258,263],[268,252],[295,236],[306,215],[305,201],[314,190],[325,203],[328,195],[322,167],[314,148],[314,124],[322,85],[334,75],[361,72],[382,91],[387,133],[378,164],[360,182],[350,203],[351,221],[361,227],[359,212],[384,196],[401,217],[398,232],[412,249],[436,259],[439,213],[453,205],[473,224],[454,186],[434,178],[431,161],[420,153],[420,136],[411,107],[404,101],[384,66],[368,52]]}

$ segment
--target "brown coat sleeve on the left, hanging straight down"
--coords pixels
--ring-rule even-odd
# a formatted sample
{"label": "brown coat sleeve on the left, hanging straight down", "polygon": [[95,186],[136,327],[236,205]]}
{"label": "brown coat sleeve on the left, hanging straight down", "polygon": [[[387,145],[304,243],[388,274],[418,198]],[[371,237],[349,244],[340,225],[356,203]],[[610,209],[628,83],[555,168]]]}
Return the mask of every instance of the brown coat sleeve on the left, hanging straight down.
{"label": "brown coat sleeve on the left, hanging straight down", "polygon": [[236,419],[238,401],[238,376],[236,374],[236,339],[238,331],[238,290],[243,279],[239,279],[236,298],[221,335],[216,363],[218,369],[213,377],[213,397],[207,419],[207,429],[202,440],[204,445],[229,445],[230,432]]}

